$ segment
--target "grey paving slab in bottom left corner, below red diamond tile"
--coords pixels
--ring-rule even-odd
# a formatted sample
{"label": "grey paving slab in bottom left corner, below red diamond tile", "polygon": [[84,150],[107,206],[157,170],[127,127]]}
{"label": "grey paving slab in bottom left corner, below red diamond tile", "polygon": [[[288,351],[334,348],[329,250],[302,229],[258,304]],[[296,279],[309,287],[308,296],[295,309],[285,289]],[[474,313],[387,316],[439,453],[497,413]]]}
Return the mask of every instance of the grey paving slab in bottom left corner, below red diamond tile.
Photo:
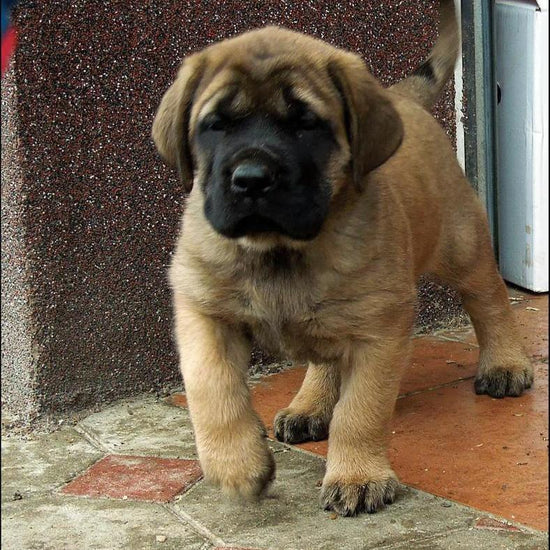
{"label": "grey paving slab in bottom left corner, below red diamond tile", "polygon": [[200,550],[210,546],[157,504],[51,496],[3,505],[3,550]]}

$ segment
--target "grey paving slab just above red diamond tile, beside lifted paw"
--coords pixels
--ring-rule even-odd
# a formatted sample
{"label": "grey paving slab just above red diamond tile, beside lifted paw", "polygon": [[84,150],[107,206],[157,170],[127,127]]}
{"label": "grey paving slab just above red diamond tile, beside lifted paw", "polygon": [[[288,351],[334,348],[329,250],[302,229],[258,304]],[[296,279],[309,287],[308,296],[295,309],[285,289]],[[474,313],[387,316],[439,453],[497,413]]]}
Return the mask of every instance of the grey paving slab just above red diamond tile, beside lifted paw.
{"label": "grey paving slab just above red diamond tile, beside lifted paw", "polygon": [[77,429],[109,453],[197,459],[189,412],[155,398],[119,403],[81,420]]}

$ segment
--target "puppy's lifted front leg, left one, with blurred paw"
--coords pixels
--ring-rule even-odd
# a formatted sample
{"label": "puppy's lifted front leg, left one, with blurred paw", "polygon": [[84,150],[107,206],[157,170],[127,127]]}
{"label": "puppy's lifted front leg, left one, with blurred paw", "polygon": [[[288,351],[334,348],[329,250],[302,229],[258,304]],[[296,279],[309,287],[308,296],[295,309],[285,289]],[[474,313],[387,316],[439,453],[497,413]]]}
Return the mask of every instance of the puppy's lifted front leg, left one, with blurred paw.
{"label": "puppy's lifted front leg, left one, with blurred paw", "polygon": [[174,298],[180,365],[206,479],[253,498],[274,478],[265,432],[250,402],[250,343],[235,327]]}

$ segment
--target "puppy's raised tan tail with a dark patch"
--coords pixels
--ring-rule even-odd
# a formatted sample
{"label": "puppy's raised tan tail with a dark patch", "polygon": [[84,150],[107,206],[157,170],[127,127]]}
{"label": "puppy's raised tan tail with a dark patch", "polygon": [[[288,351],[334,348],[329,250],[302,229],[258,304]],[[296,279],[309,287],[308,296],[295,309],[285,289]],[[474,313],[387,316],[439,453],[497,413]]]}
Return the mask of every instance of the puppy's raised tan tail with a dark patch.
{"label": "puppy's raised tan tail with a dark patch", "polygon": [[439,38],[427,59],[391,88],[430,109],[453,74],[460,37],[453,0],[440,0]]}

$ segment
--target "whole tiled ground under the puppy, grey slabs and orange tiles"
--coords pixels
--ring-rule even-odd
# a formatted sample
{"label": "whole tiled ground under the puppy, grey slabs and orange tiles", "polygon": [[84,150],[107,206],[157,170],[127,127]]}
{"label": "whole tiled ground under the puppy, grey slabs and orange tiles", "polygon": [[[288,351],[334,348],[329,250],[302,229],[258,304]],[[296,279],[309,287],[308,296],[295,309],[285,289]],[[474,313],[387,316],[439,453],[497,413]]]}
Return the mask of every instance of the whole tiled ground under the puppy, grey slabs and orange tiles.
{"label": "whole tiled ground under the puppy, grey slabs and orange tiles", "polygon": [[[261,503],[202,480],[185,395],[143,396],[2,438],[2,548],[543,549],[548,547],[548,296],[511,290],[535,386],[519,398],[473,391],[471,328],[415,338],[390,459],[403,482],[373,515],[319,506],[326,442],[270,442],[277,479]],[[270,369],[265,369],[269,371]],[[256,370],[256,410],[276,410],[304,368]]]}

